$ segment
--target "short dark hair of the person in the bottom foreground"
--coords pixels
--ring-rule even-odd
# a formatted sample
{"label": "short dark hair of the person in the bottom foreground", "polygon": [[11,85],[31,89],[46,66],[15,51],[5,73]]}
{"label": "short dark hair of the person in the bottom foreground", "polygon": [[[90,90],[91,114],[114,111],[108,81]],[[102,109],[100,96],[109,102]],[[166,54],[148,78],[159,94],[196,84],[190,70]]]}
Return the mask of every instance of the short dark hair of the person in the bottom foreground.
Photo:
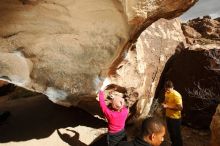
{"label": "short dark hair of the person in the bottom foreground", "polygon": [[162,119],[157,117],[147,117],[142,122],[141,126],[141,137],[159,133],[162,130],[162,127],[165,127],[165,123]]}

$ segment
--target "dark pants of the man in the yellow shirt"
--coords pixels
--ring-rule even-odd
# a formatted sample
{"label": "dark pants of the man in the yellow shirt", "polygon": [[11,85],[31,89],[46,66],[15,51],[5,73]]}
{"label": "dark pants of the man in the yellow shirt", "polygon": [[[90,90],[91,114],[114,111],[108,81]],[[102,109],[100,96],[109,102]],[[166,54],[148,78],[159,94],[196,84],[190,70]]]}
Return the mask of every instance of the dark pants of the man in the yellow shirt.
{"label": "dark pants of the man in the yellow shirt", "polygon": [[171,146],[183,146],[181,136],[181,119],[166,118],[167,129],[172,142]]}

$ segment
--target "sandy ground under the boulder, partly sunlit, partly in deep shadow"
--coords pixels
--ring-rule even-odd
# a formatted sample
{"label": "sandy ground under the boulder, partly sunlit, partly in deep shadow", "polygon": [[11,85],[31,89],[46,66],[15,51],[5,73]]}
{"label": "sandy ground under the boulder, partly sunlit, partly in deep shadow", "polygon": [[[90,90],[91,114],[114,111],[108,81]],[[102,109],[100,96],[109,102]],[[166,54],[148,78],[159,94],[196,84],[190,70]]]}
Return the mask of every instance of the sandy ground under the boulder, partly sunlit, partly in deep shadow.
{"label": "sandy ground under the boulder, partly sunlit, partly in deep shadow", "polygon": [[0,146],[87,146],[106,132],[106,123],[78,108],[65,108],[45,96],[16,100],[0,97]]}

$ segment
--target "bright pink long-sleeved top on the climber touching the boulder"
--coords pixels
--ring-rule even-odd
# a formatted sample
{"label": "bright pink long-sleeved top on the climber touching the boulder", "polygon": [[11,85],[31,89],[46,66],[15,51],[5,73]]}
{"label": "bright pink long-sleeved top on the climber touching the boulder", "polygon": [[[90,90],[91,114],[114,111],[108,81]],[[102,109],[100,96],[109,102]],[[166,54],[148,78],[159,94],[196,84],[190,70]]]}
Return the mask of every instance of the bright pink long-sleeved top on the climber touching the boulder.
{"label": "bright pink long-sleeved top on the climber touching the boulder", "polygon": [[99,91],[99,104],[102,112],[108,120],[108,131],[110,133],[117,133],[123,130],[125,127],[125,121],[128,116],[128,109],[126,107],[123,107],[120,111],[109,109],[105,104],[104,96],[104,92]]}

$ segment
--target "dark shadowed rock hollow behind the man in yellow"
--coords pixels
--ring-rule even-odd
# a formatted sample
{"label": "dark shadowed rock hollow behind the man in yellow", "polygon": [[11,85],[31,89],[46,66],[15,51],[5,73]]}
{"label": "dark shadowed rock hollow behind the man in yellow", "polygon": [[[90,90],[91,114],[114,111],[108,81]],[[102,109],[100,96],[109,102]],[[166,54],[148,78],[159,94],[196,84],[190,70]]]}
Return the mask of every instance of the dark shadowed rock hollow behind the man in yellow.
{"label": "dark shadowed rock hollow behind the man in yellow", "polygon": [[220,102],[220,50],[183,50],[173,55],[163,71],[156,95],[163,98],[165,80],[183,97],[183,123],[209,128]]}

